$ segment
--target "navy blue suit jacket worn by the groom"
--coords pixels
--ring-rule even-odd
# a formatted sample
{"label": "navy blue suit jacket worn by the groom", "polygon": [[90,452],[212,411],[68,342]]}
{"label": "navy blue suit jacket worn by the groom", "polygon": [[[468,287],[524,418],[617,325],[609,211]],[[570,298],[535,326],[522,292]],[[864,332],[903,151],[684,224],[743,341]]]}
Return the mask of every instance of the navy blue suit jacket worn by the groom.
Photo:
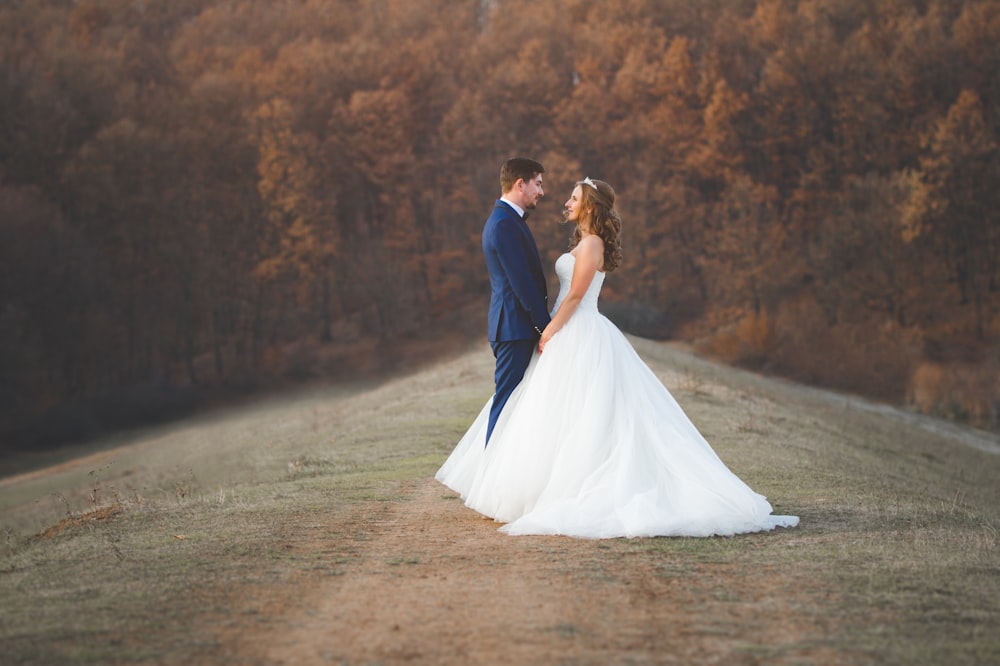
{"label": "navy blue suit jacket worn by the groom", "polygon": [[490,274],[490,342],[537,339],[549,323],[542,260],[528,225],[499,199],[483,226],[483,254]]}

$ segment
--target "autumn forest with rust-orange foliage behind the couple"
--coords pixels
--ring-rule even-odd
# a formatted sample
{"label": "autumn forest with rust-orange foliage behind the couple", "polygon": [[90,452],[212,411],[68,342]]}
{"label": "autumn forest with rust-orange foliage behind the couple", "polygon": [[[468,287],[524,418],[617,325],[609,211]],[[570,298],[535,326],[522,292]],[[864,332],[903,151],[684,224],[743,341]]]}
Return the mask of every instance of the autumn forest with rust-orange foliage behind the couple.
{"label": "autumn forest with rust-orange foliage behind the couple", "polygon": [[0,440],[484,339],[513,155],[626,331],[1000,428],[995,0],[6,0]]}

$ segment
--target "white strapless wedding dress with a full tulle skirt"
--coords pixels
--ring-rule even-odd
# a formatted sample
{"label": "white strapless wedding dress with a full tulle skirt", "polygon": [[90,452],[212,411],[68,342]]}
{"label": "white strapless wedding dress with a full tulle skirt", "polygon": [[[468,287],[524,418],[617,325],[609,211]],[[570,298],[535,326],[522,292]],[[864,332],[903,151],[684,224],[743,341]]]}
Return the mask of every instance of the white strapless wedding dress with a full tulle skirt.
{"label": "white strapless wedding dress with a full tulle skirt", "polygon": [[[575,258],[556,261],[559,297]],[[508,534],[710,536],[792,527],[719,459],[597,309],[604,273],[504,406],[490,402],[436,478]]]}

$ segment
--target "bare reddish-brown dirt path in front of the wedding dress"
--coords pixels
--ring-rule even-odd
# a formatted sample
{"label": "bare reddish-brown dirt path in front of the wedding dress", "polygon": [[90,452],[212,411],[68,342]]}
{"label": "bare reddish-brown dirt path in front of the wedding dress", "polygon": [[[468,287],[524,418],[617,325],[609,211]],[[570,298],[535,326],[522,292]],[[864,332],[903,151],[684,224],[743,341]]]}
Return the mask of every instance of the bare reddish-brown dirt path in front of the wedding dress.
{"label": "bare reddish-brown dirt path in front of the wedding dress", "polygon": [[[230,627],[227,658],[267,664],[838,663],[808,581],[650,540],[508,537],[432,479],[404,501],[312,525],[300,551],[337,575],[258,597],[263,628]],[[745,539],[782,538],[756,535]],[[300,553],[301,554],[301,553]],[[731,559],[731,558],[730,558]],[[813,600],[815,601],[815,600]],[[841,653],[842,654],[842,653]]]}

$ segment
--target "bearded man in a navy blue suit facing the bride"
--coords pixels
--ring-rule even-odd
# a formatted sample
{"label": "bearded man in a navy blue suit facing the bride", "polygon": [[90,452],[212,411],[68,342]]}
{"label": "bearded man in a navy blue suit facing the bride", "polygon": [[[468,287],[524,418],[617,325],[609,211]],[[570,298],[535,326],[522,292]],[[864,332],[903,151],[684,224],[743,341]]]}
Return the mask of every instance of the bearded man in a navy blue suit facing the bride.
{"label": "bearded man in a navy blue suit facing the bride", "polygon": [[542,261],[524,222],[527,212],[545,195],[544,171],[541,164],[524,157],[504,162],[500,167],[502,196],[483,227],[483,254],[490,274],[489,339],[497,359],[487,444],[507,399],[524,377],[542,329],[549,323]]}

